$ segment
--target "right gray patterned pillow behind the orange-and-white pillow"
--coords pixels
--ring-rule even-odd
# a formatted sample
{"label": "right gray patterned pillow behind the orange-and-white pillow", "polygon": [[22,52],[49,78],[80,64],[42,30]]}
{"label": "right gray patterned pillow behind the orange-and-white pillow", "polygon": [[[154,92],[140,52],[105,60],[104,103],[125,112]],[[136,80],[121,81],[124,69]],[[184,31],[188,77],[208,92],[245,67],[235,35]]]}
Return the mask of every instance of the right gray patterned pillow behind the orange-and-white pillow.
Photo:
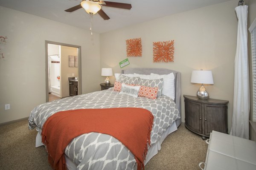
{"label": "right gray patterned pillow behind the orange-and-white pillow", "polygon": [[151,88],[158,87],[157,97],[162,96],[163,79],[140,79],[139,85],[144,85]]}

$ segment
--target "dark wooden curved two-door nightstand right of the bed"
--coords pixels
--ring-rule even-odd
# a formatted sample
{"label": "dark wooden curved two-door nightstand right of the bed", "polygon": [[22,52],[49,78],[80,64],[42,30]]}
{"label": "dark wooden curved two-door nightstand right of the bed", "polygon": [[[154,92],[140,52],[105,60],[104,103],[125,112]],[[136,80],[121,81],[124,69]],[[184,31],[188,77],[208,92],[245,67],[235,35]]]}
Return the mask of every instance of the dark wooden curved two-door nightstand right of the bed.
{"label": "dark wooden curved two-door nightstand right of the bed", "polygon": [[212,130],[227,133],[227,100],[198,99],[197,96],[184,96],[185,126],[202,136],[209,137]]}

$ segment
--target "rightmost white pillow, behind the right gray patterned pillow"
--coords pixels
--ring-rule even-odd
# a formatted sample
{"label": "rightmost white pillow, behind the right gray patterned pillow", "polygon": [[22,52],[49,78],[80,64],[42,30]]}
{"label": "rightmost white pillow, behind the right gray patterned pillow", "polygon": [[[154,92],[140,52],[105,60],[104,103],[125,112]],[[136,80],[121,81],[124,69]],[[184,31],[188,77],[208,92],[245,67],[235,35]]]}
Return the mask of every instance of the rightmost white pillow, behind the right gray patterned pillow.
{"label": "rightmost white pillow, behind the right gray patterned pillow", "polygon": [[163,78],[163,90],[162,95],[169,96],[171,99],[175,99],[175,84],[174,84],[174,74],[150,74],[150,79],[161,79]]}

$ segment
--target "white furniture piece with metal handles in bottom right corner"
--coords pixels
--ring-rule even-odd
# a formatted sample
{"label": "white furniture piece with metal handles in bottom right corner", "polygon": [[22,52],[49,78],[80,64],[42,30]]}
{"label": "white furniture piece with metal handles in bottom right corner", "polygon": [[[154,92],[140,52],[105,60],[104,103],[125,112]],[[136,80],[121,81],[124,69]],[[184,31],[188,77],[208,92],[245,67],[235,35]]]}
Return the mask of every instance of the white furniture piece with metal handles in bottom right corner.
{"label": "white furniture piece with metal handles in bottom right corner", "polygon": [[[205,164],[204,169],[201,164]],[[206,161],[199,167],[201,170],[256,170],[256,142],[212,130]]]}

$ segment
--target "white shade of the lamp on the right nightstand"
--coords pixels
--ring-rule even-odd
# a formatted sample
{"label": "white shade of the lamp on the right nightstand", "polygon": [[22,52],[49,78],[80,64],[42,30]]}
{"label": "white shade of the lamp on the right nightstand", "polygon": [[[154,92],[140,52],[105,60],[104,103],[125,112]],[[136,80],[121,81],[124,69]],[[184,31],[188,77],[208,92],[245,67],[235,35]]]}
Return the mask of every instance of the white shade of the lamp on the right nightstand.
{"label": "white shade of the lamp on the right nightstand", "polygon": [[213,84],[212,71],[194,70],[191,75],[192,83]]}

